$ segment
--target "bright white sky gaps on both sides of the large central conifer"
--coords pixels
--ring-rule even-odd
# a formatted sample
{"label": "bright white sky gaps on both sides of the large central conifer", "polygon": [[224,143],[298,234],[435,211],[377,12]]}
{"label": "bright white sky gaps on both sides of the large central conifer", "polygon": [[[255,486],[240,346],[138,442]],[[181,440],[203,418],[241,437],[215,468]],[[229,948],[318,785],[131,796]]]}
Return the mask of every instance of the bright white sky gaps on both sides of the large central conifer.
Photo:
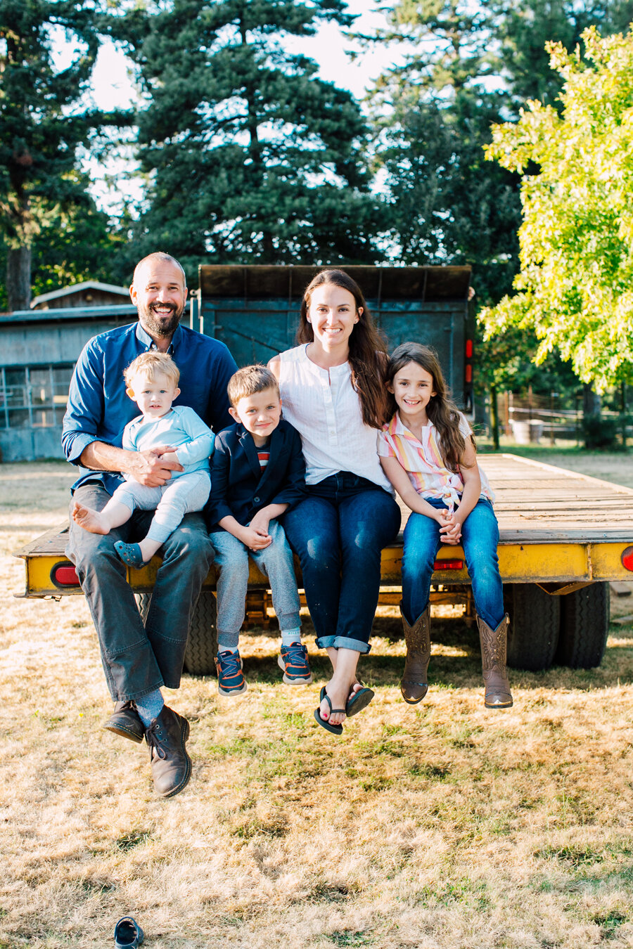
{"label": "bright white sky gaps on both sides of the large central conifer", "polygon": [[[372,7],[372,0],[348,0],[347,12],[358,15],[354,29],[373,33],[377,28],[386,26],[382,13]],[[349,89],[359,100],[363,99],[367,87],[382,70],[394,62],[393,47],[376,44],[371,49],[362,50],[333,23],[322,25],[313,37],[292,42],[296,51],[305,53],[319,65],[321,79]],[[289,48],[293,47],[289,45]],[[347,51],[352,49],[358,52],[353,61],[347,55]],[[130,65],[121,49],[111,42],[105,42],[100,49],[93,72],[92,96],[102,109],[126,108],[135,102],[136,92],[130,76]],[[109,214],[121,211],[118,182],[121,180],[122,168],[129,170],[131,161],[131,154],[125,158],[112,158],[105,165],[97,164],[88,156],[84,159],[84,167],[93,180],[92,194],[97,204]],[[141,193],[142,182],[139,178],[126,179],[125,194],[128,197],[137,200]]]}

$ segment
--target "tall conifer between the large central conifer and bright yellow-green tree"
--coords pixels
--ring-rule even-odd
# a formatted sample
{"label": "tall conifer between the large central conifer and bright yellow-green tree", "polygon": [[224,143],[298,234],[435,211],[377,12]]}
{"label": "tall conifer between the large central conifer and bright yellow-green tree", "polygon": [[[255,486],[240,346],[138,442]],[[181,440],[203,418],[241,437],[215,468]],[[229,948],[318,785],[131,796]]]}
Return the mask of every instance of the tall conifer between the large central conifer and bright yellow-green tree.
{"label": "tall conifer between the large central conifer and bright yellow-green tree", "polygon": [[487,13],[467,0],[400,0],[382,42],[413,52],[371,96],[387,177],[391,254],[406,264],[471,264],[479,296],[512,284],[520,222],[518,182],[491,168],[482,145],[505,97]]}

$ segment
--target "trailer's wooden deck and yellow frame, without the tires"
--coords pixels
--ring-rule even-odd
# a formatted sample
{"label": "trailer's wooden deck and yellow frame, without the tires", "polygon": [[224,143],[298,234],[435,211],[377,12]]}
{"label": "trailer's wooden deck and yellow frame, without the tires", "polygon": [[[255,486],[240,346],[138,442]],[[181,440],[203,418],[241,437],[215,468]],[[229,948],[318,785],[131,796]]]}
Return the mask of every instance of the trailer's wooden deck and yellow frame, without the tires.
{"label": "trailer's wooden deck and yellow frame, without the tires", "polygon": [[[633,549],[633,490],[584,474],[554,468],[513,455],[481,455],[481,467],[495,492],[499,521],[499,569],[504,583],[533,583],[550,593],[565,593],[578,585],[633,580],[624,566]],[[403,509],[403,518],[407,516]],[[65,557],[67,525],[47,531],[17,551],[26,566],[24,596],[81,594],[81,587],[61,586],[54,568],[71,567]],[[382,551],[382,585],[400,585],[402,534]],[[462,568],[443,569],[442,562],[461,561]],[[130,568],[128,579],[140,592],[152,589],[160,559],[147,567]],[[631,564],[633,568],[633,564]],[[250,586],[268,581],[251,564]],[[470,578],[460,547],[441,547],[434,585],[468,585]],[[205,581],[215,586],[214,569]]]}

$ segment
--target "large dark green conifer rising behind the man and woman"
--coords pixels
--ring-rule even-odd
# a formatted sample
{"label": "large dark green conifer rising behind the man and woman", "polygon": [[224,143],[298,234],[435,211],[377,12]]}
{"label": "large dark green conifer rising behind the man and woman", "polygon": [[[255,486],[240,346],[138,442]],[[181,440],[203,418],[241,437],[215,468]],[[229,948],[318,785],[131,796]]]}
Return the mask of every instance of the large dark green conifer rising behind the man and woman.
{"label": "large dark green conifer rising behind the man and woman", "polygon": [[132,250],[216,262],[363,262],[378,256],[378,202],[350,93],[289,41],[350,23],[343,0],[169,0],[121,19],[147,108],[150,177]]}

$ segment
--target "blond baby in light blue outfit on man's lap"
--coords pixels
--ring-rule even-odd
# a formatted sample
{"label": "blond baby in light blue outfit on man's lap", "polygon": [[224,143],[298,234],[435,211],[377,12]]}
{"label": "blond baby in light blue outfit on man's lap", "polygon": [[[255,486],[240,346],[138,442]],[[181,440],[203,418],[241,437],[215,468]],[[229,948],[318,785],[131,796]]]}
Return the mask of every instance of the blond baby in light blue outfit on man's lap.
{"label": "blond baby in light blue outfit on man's lap", "polygon": [[135,508],[156,509],[143,540],[138,544],[120,540],[114,545],[124,564],[141,568],[177,529],[184,514],[204,508],[211,488],[209,456],[214,450],[214,435],[193,409],[172,405],[180,393],[180,372],[167,353],[141,353],[123,375],[125,391],[142,414],[123,429],[122,447],[137,452],[154,450],[164,461],[179,464],[181,471],[173,471],[169,481],[157,488],[123,474],[125,484],[117,488],[102,511],[76,501],[72,518],[84,530],[107,534],[129,521]]}

